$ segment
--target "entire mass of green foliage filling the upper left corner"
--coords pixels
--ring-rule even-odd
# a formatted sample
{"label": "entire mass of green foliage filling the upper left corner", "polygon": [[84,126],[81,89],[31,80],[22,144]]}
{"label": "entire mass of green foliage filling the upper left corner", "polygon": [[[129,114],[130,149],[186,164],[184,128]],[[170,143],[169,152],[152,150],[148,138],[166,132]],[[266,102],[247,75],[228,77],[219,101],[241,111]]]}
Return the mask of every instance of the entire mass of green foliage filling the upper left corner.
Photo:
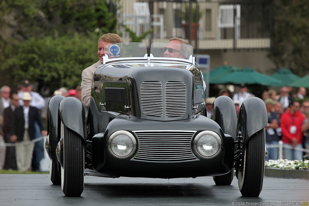
{"label": "entire mass of green foliage filling the upper left corner", "polygon": [[116,33],[113,8],[106,0],[0,1],[0,86],[80,85],[83,69],[97,61],[99,37]]}

